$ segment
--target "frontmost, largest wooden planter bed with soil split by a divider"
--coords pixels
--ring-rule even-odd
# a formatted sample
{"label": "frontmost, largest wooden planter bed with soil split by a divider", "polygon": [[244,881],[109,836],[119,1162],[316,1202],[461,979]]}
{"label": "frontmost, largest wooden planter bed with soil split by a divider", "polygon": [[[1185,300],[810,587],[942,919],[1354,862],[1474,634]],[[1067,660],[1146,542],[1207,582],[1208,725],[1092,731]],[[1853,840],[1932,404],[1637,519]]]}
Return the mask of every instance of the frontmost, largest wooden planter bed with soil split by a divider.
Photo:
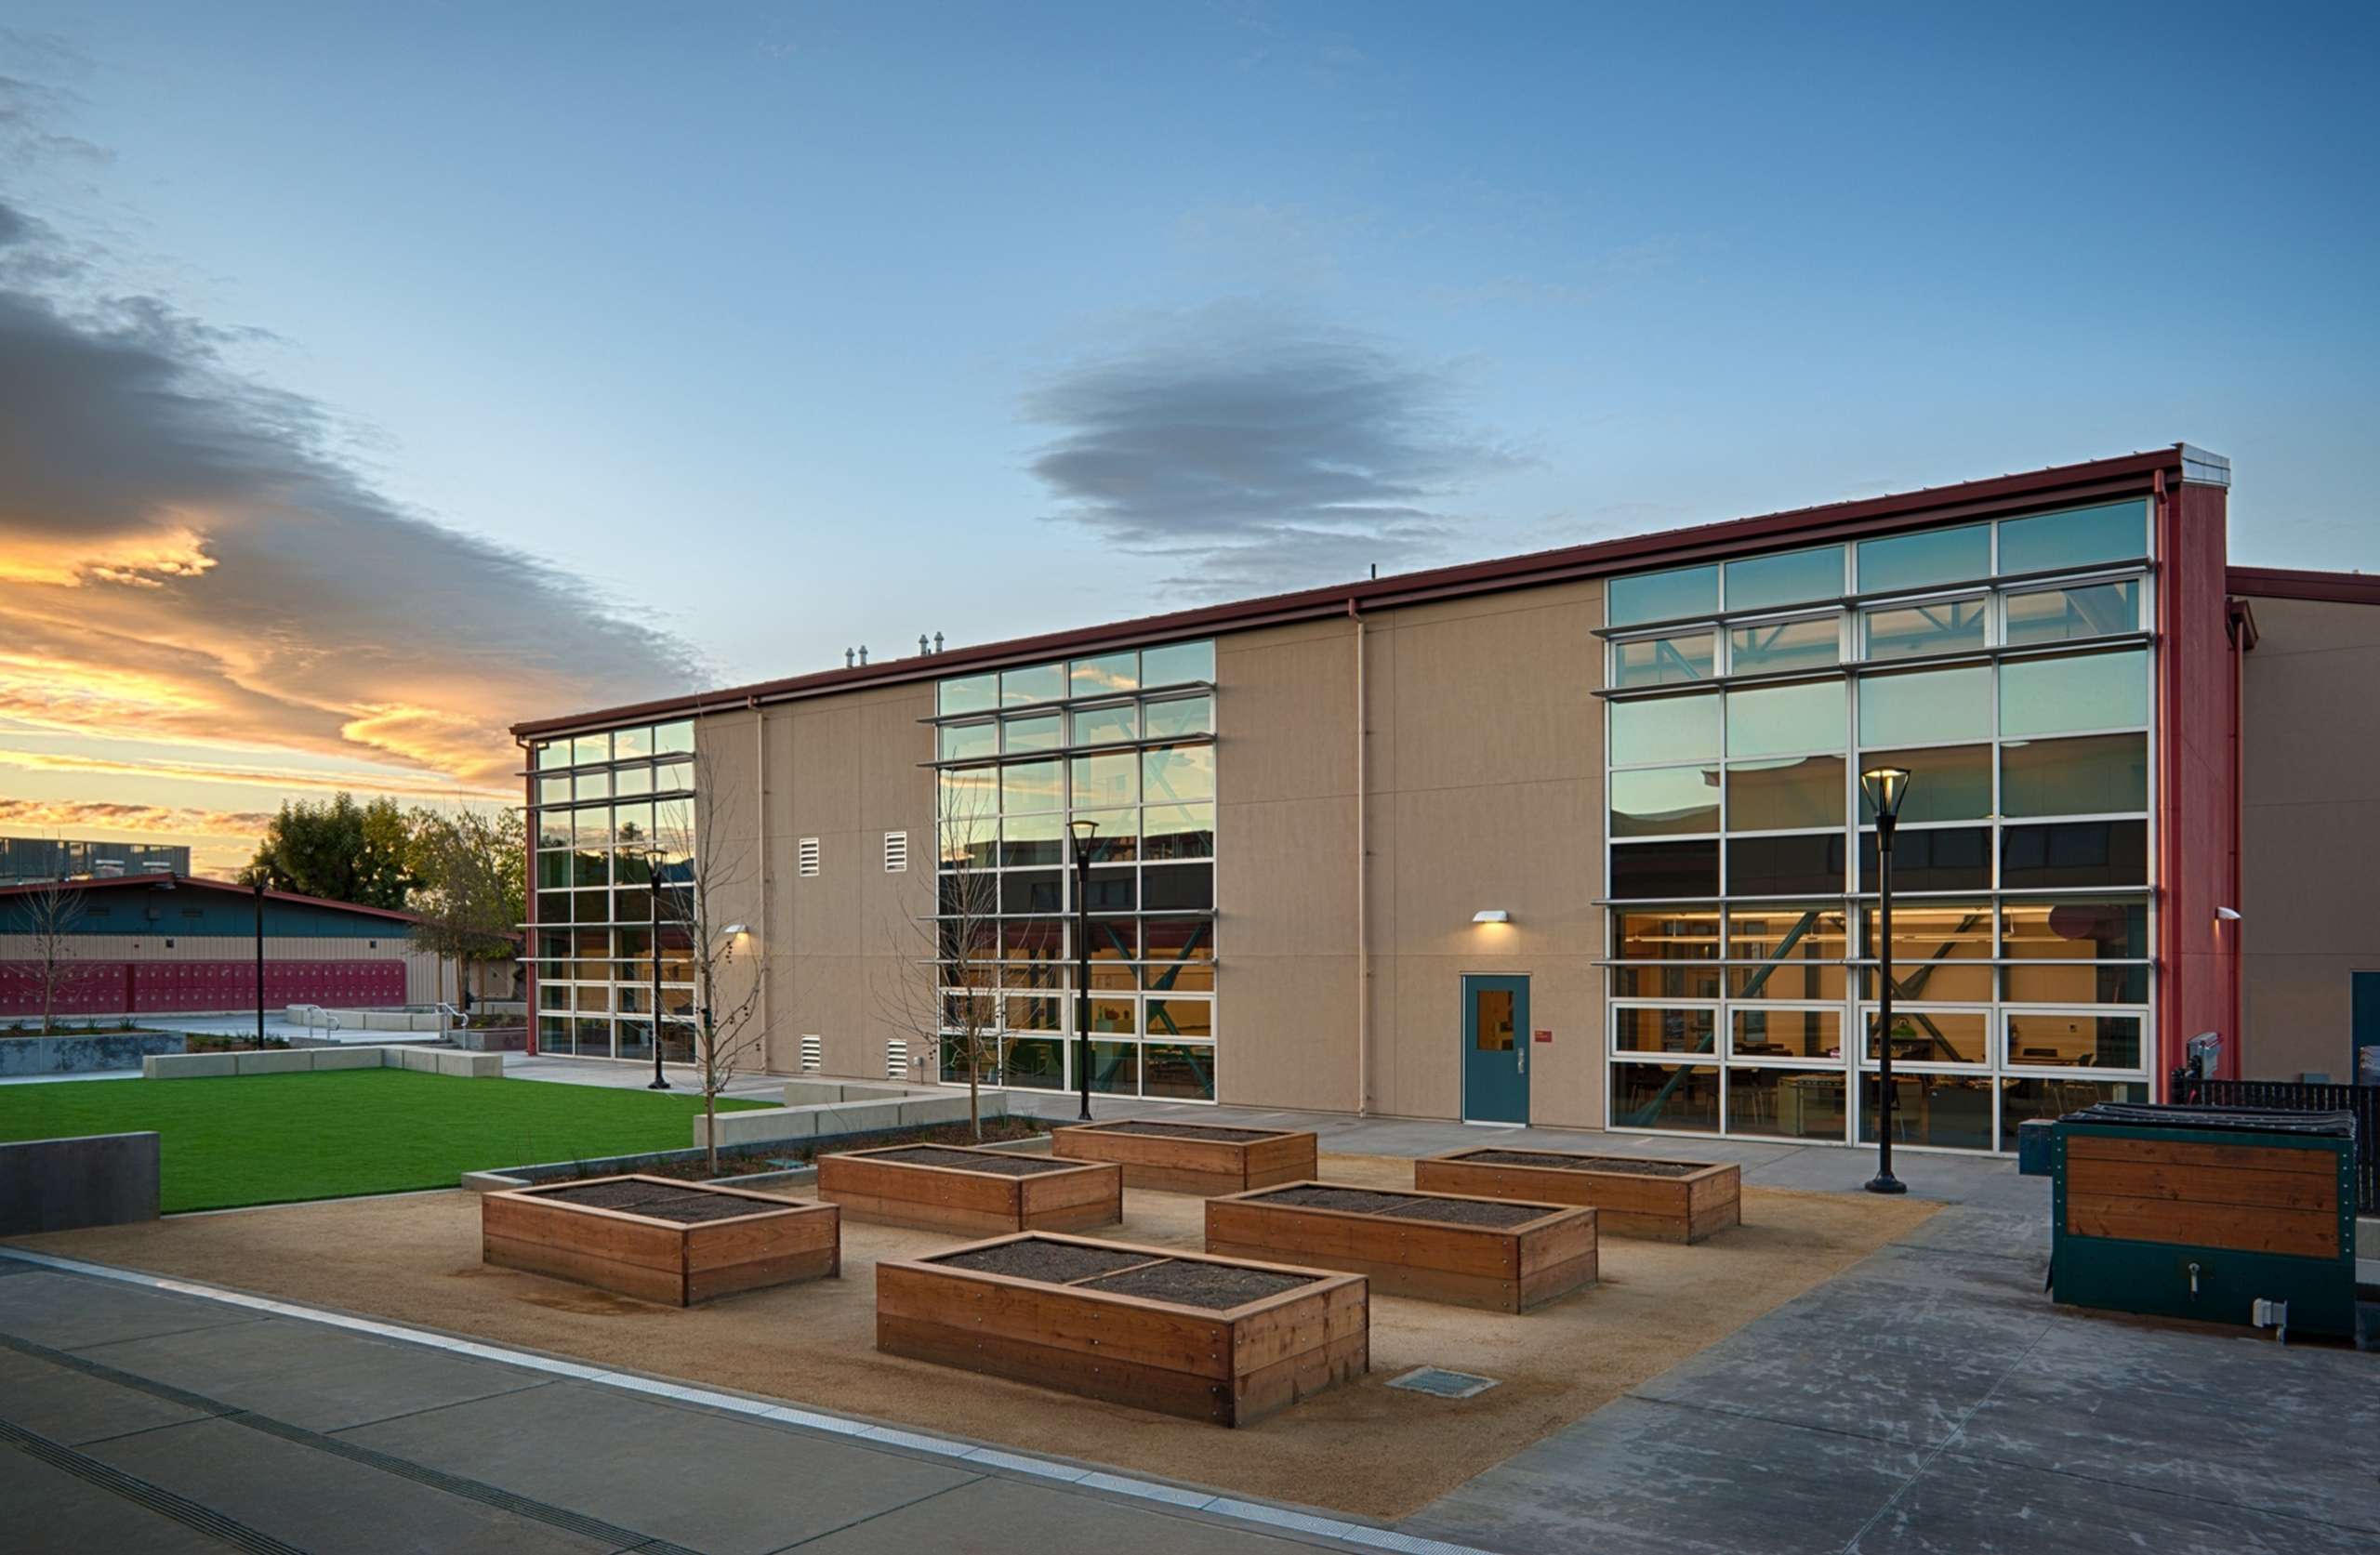
{"label": "frontmost, largest wooden planter bed with soil split by a divider", "polygon": [[876,1348],[1240,1427],[1371,1370],[1361,1274],[1028,1232],[876,1265]]}

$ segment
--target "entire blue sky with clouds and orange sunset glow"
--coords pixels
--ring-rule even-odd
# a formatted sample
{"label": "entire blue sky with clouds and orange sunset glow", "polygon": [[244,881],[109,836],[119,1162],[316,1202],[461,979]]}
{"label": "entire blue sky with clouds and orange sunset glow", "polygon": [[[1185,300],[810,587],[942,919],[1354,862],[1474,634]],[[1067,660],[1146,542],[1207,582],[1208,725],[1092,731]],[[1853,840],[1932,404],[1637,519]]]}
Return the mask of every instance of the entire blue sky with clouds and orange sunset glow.
{"label": "entire blue sky with clouds and orange sunset glow", "polygon": [[2071,464],[2380,571],[2380,12],[0,5],[0,835]]}

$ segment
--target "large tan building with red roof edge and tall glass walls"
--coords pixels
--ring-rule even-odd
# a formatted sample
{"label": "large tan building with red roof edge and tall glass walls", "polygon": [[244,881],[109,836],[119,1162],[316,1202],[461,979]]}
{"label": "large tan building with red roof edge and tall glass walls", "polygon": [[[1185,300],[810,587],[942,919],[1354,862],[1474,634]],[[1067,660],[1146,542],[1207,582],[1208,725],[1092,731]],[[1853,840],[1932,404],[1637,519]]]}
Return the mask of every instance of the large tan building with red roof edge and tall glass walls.
{"label": "large tan building with red roof edge and tall glass walls", "polygon": [[[536,1039],[650,1058],[662,835],[735,865],[771,1068],[914,1063],[888,994],[988,873],[997,961],[945,994],[1000,1082],[1071,1087],[1097,818],[1100,1091],[1854,1141],[1890,758],[1902,1139],[2013,1148],[2209,1030],[2342,1070],[2344,1022],[2242,1030],[2242,675],[2297,671],[2247,651],[2228,485],[2178,445],[526,723]],[[2278,956],[2259,999],[2311,999]]]}

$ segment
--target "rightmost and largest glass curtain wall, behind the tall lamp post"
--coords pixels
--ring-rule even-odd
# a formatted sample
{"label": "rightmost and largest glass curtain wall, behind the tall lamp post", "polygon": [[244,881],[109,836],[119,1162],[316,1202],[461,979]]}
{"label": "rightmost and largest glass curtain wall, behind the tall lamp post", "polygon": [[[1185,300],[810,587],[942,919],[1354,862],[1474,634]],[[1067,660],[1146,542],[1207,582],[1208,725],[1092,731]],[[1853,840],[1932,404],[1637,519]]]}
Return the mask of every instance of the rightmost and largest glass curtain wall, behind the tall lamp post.
{"label": "rightmost and largest glass curtain wall, behind the tall lamp post", "polygon": [[2149,1096],[2147,561],[2123,502],[1611,580],[1611,1127],[1873,1141],[1883,1041],[1897,1144]]}

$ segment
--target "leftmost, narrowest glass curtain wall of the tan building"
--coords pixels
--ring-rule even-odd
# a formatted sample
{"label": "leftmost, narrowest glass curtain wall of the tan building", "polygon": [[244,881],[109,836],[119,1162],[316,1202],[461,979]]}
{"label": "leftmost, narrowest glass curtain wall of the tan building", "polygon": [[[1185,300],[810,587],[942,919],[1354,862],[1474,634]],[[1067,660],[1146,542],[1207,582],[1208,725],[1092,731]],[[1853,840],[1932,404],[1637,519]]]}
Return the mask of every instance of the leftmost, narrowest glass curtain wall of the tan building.
{"label": "leftmost, narrowest glass curtain wall of the tan building", "polygon": [[693,1063],[695,968],[671,892],[693,889],[695,725],[538,739],[528,761],[538,1051],[652,1063],[659,958],[662,1056]]}

